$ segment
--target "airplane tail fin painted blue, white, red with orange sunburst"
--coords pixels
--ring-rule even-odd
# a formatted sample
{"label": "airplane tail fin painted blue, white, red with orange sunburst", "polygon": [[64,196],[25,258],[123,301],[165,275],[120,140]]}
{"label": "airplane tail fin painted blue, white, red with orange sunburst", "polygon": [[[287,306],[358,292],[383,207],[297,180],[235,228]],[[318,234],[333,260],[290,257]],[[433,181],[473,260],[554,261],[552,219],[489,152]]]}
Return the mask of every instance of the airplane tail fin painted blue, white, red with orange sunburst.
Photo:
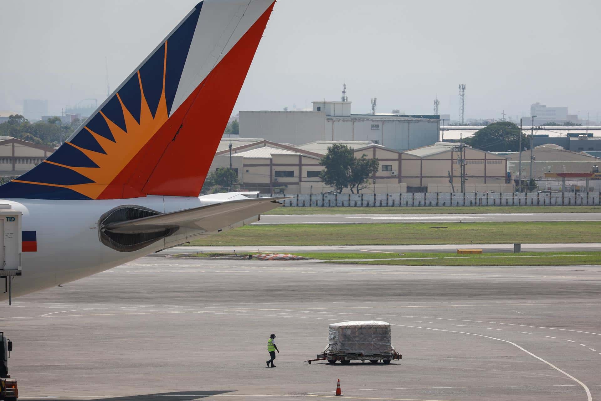
{"label": "airplane tail fin painted blue, white, red with orange sunburst", "polygon": [[2,198],[198,196],[274,0],[204,0]]}

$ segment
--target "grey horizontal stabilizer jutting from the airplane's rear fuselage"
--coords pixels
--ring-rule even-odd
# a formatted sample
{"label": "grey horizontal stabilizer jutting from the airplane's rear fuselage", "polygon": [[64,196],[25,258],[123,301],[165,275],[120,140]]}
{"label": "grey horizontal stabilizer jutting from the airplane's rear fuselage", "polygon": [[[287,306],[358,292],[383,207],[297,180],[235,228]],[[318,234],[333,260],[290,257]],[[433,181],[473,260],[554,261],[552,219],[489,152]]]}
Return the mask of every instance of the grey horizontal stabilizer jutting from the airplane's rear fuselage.
{"label": "grey horizontal stabilizer jutting from the airplane's rear fuselage", "polygon": [[252,216],[282,206],[279,200],[286,197],[246,198],[207,206],[193,207],[178,212],[117,221],[106,224],[105,231],[117,234],[154,233],[169,228],[192,228],[193,230],[216,231]]}

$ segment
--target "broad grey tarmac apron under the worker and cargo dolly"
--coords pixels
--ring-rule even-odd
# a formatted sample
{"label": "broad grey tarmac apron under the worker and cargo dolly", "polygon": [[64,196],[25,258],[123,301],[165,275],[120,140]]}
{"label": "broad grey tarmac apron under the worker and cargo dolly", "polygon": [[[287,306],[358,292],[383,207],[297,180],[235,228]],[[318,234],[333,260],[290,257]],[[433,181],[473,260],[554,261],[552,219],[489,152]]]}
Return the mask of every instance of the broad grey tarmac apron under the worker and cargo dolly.
{"label": "broad grey tarmac apron under the worker and cargo dolly", "polygon": [[[328,399],[337,379],[348,399],[593,400],[600,305],[601,266],[154,255],[2,304],[0,324],[27,400]],[[403,360],[304,362],[329,323],[371,319],[393,325]]]}

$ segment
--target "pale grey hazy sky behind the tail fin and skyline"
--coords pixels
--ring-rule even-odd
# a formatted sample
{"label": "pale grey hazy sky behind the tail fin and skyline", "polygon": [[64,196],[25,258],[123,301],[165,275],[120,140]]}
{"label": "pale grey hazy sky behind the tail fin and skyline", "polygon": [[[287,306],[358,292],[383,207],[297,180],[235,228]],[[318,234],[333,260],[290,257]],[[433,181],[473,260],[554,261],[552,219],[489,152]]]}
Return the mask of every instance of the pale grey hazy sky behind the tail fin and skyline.
{"label": "pale grey hazy sky behind the tail fin and skyline", "polygon": [[[0,110],[47,99],[50,114],[106,98],[197,1],[0,1]],[[280,0],[239,110],[340,100],[354,113],[399,108],[457,118],[529,115],[529,106],[601,114],[599,1]]]}

